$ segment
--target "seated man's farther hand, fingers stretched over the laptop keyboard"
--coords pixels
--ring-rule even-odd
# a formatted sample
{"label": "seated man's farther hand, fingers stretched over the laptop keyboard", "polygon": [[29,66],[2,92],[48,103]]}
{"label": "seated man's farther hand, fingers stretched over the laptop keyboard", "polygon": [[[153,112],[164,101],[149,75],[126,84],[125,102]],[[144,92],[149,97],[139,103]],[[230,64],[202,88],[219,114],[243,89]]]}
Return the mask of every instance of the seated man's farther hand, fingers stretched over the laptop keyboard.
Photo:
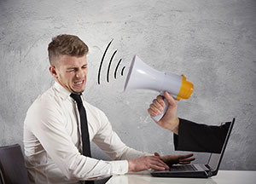
{"label": "seated man's farther hand, fingers stretched over the laptop keyboard", "polygon": [[190,164],[191,161],[195,160],[195,158],[191,158],[193,156],[193,153],[185,154],[185,155],[160,156],[158,152],[154,152],[154,155],[156,157],[159,157],[161,160],[163,160],[169,167],[171,167],[172,164]]}

